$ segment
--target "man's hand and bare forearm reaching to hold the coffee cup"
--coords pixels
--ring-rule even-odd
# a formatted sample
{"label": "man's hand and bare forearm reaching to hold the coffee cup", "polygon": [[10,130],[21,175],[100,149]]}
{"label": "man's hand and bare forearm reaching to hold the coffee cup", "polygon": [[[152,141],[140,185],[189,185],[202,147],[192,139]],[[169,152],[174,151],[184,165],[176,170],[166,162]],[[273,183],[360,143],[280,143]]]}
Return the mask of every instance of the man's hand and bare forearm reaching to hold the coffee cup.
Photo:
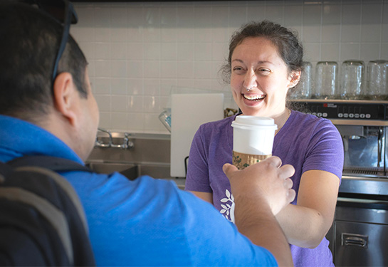
{"label": "man's hand and bare forearm reaching to hold the coffee cup", "polygon": [[280,166],[278,157],[269,157],[243,170],[231,164],[223,170],[231,182],[238,231],[271,251],[279,266],[293,266],[290,246],[275,215],[295,198],[289,178],[295,169]]}

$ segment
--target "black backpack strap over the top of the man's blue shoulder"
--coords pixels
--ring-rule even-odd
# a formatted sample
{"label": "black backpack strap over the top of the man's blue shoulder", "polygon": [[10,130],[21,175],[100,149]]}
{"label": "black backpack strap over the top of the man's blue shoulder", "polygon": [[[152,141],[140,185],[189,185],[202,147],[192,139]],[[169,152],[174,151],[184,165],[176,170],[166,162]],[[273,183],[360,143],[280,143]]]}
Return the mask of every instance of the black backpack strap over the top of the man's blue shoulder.
{"label": "black backpack strap over the top of the man's blue shoulder", "polygon": [[27,155],[23,157],[17,157],[7,162],[11,167],[21,166],[37,166],[47,169],[51,169],[54,172],[66,172],[66,171],[84,171],[93,172],[90,168],[79,164],[70,159],[64,159],[63,157],[52,157],[46,155]]}

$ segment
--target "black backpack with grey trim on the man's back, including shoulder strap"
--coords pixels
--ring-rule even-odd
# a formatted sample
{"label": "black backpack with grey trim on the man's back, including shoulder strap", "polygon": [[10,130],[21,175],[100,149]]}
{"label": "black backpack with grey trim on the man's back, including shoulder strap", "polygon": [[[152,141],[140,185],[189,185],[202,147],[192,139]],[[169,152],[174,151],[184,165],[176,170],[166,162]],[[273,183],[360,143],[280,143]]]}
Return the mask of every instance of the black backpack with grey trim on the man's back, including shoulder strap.
{"label": "black backpack with grey trim on the man's back, including shoulder strap", "polygon": [[95,266],[80,199],[50,169],[92,172],[58,157],[0,162],[0,266]]}

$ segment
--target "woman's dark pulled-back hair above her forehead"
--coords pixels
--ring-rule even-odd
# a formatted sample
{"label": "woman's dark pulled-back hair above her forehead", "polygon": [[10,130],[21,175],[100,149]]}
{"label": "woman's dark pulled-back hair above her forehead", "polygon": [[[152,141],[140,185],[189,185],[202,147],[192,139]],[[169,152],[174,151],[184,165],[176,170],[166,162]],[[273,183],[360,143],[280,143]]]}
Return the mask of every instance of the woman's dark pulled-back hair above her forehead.
{"label": "woman's dark pulled-back hair above her forehead", "polygon": [[220,70],[222,79],[226,83],[229,83],[231,78],[231,57],[234,49],[244,39],[252,37],[263,37],[271,41],[276,46],[279,56],[283,59],[289,73],[295,70],[303,70],[303,47],[298,40],[297,32],[271,21],[252,21],[241,26],[231,37],[229,56]]}

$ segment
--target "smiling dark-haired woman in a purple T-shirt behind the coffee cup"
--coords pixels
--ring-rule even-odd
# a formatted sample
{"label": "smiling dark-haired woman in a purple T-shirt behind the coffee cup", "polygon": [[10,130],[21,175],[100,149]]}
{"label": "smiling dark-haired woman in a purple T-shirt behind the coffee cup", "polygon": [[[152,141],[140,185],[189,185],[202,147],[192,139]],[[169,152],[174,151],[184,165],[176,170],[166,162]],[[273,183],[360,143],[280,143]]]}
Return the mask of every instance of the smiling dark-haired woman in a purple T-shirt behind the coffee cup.
{"label": "smiling dark-haired woman in a purple T-shirt behind the coffee cup", "polygon": [[[270,21],[236,31],[221,69],[231,85],[238,115],[271,117],[278,125],[272,155],[295,167],[297,197],[276,215],[293,253],[295,266],[333,266],[325,234],[332,224],[342,177],[343,149],[330,120],[287,108],[287,95],[303,70],[303,48],[295,33]],[[186,190],[234,220],[234,197],[222,172],[232,162],[236,116],[199,127],[192,142]],[[254,209],[253,209],[254,210]],[[311,249],[313,248],[313,249]]]}

